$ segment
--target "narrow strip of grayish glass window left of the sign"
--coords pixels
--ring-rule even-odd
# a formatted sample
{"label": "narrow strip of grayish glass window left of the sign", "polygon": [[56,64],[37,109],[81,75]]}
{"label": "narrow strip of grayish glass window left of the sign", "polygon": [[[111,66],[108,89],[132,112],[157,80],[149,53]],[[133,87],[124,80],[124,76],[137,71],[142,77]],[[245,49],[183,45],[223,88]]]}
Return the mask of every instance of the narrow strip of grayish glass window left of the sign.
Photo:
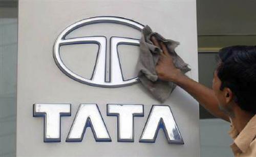
{"label": "narrow strip of grayish glass window left of the sign", "polygon": [[17,2],[0,3],[0,156],[16,154]]}

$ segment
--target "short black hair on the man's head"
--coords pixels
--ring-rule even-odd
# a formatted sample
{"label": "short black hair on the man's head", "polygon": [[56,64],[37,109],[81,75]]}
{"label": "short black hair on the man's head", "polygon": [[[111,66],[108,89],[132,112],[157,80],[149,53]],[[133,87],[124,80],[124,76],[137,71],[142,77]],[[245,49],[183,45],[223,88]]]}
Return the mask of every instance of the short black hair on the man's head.
{"label": "short black hair on the man's head", "polygon": [[256,46],[232,46],[219,52],[220,89],[230,88],[243,110],[256,114]]}

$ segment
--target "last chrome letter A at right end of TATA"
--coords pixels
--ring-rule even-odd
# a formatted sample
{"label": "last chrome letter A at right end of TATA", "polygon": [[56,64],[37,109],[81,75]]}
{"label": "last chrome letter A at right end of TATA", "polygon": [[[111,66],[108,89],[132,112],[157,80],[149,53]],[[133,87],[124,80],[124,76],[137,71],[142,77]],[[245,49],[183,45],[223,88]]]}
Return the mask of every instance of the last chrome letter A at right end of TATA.
{"label": "last chrome letter A at right end of TATA", "polygon": [[162,128],[168,143],[184,144],[169,106],[153,105],[141,134],[140,142],[155,142]]}

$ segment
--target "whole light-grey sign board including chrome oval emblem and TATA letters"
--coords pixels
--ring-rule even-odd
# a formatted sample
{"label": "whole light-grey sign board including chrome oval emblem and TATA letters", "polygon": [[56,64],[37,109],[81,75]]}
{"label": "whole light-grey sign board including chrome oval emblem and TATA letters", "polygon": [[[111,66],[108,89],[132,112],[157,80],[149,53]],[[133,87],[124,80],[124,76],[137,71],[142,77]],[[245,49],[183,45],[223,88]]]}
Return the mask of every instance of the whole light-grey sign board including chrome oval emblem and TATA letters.
{"label": "whole light-grey sign board including chrome oval emblem and TATA letters", "polygon": [[198,103],[136,76],[145,25],[198,79],[196,1],[19,1],[17,156],[199,156]]}

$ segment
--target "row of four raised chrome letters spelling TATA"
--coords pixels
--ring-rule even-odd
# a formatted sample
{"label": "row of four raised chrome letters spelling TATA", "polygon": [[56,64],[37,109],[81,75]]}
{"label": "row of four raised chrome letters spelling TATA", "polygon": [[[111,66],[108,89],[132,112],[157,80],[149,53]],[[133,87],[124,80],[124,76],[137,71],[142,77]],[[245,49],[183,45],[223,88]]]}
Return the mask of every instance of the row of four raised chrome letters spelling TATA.
{"label": "row of four raised chrome letters spelling TATA", "polygon": [[[142,104],[107,104],[107,115],[117,117],[118,142],[134,142],[134,117],[144,116]],[[60,142],[61,117],[71,116],[71,104],[36,103],[33,116],[44,118],[44,142]],[[66,142],[81,142],[91,127],[97,142],[111,142],[97,104],[80,104]],[[154,143],[162,128],[168,143],[184,144],[170,107],[152,105],[139,142]]]}

